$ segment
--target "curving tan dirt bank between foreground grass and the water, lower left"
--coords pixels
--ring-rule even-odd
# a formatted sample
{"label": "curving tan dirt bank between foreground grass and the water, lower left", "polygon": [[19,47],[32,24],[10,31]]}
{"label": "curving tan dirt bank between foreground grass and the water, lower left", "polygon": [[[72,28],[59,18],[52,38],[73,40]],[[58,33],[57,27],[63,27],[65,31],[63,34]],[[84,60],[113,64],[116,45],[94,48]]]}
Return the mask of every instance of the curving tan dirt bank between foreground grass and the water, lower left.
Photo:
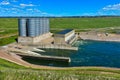
{"label": "curving tan dirt bank between foreground grass and the water, lower left", "polygon": [[8,53],[4,50],[0,50],[0,58],[1,59],[5,59],[7,61],[16,63],[18,65],[22,65],[28,68],[36,68],[36,69],[57,69],[55,67],[47,67],[47,66],[40,66],[40,65],[34,65],[34,64],[30,64],[24,60],[21,59],[20,56],[14,54],[14,53]]}

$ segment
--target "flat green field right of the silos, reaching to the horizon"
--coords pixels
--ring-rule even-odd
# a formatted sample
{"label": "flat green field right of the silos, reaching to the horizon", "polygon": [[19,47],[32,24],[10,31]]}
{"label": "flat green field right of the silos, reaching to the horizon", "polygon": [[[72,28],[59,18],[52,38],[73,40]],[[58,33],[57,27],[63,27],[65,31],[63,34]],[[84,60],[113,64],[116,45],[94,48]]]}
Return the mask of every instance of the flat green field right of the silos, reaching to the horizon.
{"label": "flat green field right of the silos, reaching to the horizon", "polygon": [[51,28],[58,29],[91,29],[119,27],[120,17],[98,17],[98,18],[51,18]]}

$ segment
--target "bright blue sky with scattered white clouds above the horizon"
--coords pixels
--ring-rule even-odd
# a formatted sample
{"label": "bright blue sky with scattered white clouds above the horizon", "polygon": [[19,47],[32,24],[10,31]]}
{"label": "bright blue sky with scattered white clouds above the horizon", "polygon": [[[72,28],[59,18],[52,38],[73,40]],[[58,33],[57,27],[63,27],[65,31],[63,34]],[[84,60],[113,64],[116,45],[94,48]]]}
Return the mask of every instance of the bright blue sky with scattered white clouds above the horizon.
{"label": "bright blue sky with scattered white clouds above the horizon", "polygon": [[120,0],[0,0],[0,16],[120,15]]}

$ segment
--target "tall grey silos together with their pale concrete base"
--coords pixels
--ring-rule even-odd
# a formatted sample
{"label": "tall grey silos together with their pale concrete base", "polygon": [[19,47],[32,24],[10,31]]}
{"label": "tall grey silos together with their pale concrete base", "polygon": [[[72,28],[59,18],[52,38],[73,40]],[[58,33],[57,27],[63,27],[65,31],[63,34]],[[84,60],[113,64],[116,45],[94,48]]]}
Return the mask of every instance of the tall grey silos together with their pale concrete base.
{"label": "tall grey silos together with their pale concrete base", "polygon": [[33,44],[51,37],[49,18],[19,18],[18,43]]}

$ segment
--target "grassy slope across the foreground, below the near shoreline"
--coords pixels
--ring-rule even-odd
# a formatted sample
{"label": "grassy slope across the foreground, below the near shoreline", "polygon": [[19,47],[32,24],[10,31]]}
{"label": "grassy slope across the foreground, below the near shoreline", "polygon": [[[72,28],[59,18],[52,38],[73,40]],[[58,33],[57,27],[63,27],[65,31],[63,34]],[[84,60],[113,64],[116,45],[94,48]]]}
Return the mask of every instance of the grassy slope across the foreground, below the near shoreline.
{"label": "grassy slope across the foreground, below the near shoreline", "polygon": [[0,80],[120,80],[120,70],[71,68],[64,70],[31,69],[0,59]]}

